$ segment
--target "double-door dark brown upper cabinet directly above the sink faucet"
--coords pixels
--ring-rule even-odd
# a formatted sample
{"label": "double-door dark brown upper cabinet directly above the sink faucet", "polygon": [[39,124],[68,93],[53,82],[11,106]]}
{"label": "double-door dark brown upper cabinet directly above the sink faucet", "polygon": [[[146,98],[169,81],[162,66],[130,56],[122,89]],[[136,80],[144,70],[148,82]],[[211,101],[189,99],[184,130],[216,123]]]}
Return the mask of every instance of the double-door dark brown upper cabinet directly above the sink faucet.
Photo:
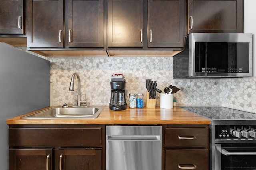
{"label": "double-door dark brown upper cabinet directly above the sink faucet", "polygon": [[104,47],[104,0],[28,0],[27,41],[30,48]]}

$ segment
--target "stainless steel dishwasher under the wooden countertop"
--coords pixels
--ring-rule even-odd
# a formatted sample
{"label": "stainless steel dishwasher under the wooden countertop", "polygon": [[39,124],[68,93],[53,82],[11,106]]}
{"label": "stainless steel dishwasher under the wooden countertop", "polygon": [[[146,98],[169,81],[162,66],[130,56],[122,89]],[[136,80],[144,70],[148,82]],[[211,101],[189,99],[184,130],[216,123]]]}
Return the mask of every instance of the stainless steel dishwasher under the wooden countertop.
{"label": "stainless steel dishwasher under the wooden countertop", "polygon": [[106,126],[106,170],[161,170],[162,126]]}

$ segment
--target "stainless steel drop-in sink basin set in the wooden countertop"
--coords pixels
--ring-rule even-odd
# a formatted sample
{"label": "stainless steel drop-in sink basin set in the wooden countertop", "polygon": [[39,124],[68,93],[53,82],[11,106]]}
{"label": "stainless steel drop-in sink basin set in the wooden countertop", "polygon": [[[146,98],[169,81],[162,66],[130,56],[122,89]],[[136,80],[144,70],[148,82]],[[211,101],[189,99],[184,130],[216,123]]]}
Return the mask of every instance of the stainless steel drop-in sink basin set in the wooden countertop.
{"label": "stainless steel drop-in sink basin set in the wooden countertop", "polygon": [[95,119],[97,118],[104,106],[84,106],[84,107],[53,107],[44,111],[39,111],[21,117],[22,119],[52,119],[52,118],[79,118]]}

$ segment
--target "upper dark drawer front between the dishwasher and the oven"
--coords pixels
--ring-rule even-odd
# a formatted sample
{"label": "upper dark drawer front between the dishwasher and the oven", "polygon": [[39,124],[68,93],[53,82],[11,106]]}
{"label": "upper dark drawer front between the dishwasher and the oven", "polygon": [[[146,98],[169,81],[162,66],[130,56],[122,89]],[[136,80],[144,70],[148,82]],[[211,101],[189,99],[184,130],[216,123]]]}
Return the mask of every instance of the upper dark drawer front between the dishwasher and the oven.
{"label": "upper dark drawer front between the dishwasher and the oven", "polygon": [[166,128],[166,147],[208,147],[209,129]]}

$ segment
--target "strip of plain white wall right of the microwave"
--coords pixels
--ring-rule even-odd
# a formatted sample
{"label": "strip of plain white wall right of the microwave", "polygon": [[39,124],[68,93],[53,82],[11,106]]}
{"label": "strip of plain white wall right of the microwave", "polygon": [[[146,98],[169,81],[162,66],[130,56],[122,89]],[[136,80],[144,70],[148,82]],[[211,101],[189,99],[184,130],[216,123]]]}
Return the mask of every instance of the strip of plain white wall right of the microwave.
{"label": "strip of plain white wall right of the microwave", "polygon": [[252,50],[252,76],[256,76],[256,0],[244,0],[244,33],[253,34],[253,50]]}

